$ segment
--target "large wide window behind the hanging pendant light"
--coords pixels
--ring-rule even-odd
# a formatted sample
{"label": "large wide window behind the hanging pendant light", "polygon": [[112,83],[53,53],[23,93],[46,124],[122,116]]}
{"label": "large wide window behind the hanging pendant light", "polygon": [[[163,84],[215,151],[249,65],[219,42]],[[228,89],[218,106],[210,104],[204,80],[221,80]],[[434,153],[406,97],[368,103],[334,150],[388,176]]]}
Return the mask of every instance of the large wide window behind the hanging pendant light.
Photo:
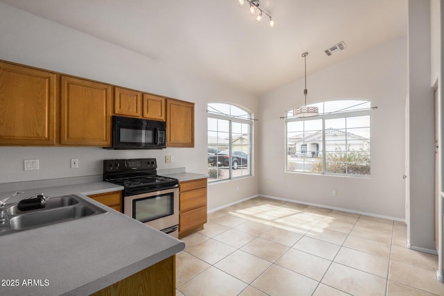
{"label": "large wide window behind the hanging pendant light", "polygon": [[320,115],[287,112],[288,172],[370,175],[370,102],[329,101],[311,106]]}

